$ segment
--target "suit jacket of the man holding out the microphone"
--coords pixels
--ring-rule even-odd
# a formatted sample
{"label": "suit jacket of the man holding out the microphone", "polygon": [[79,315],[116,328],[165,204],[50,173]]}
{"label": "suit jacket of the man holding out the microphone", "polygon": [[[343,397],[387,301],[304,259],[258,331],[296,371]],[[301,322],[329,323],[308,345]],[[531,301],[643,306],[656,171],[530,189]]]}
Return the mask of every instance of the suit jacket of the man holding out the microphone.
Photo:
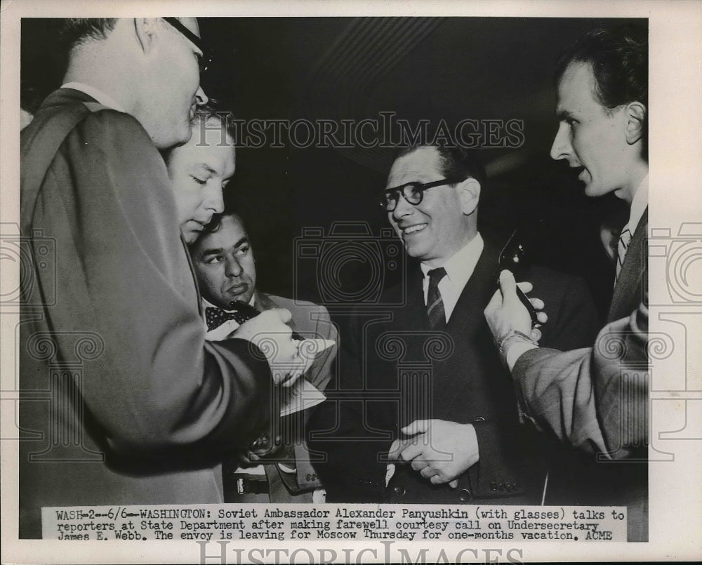
{"label": "suit jacket of the man holding out the microphone", "polygon": [[[644,540],[648,533],[647,230],[645,211],[595,346],[531,350],[512,371],[525,416],[562,441],[597,454],[598,459],[588,458],[587,472],[580,475],[584,494],[579,502],[626,505],[629,540]],[[617,463],[608,465],[607,459]]]}

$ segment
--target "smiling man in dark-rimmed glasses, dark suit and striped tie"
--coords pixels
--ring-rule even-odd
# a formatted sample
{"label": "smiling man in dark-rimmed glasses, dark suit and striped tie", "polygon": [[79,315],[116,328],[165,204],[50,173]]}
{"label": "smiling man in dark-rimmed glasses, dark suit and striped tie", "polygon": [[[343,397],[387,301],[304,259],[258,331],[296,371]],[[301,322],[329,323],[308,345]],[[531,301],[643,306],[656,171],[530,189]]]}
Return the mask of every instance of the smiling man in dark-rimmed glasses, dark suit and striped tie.
{"label": "smiling man in dark-rimmed glasses, dark suit and striped tie", "polygon": [[[383,298],[400,306],[358,310],[341,333],[339,397],[312,414],[307,436],[326,455],[315,468],[330,501],[541,501],[547,462],[519,425],[482,315],[499,255],[477,230],[484,186],[463,149],[411,147],[392,165],[381,204],[420,265]],[[594,335],[582,281],[538,267],[530,276],[552,301],[545,343]]]}

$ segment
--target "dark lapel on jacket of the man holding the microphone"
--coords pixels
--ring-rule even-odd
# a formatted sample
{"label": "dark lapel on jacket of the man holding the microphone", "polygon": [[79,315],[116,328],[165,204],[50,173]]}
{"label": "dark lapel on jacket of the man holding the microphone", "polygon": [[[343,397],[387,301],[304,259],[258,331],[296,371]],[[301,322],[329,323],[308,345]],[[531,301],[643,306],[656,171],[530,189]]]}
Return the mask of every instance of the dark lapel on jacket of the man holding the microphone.
{"label": "dark lapel on jacket of the man holding the microphone", "polygon": [[607,314],[607,321],[614,321],[628,316],[638,306],[642,296],[642,279],[647,270],[648,250],[648,208],[639,220],[631,238],[619,277],[614,287],[614,295]]}

